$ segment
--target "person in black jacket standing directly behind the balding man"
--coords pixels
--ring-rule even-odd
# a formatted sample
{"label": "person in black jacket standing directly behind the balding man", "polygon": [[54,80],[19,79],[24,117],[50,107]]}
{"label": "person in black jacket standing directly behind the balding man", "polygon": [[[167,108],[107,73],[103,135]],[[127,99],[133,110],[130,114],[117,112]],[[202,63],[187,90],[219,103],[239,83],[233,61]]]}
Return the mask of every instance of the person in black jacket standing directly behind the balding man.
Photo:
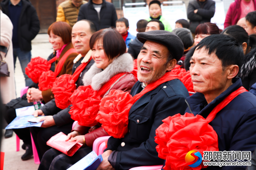
{"label": "person in black jacket standing directly behind the balding man", "polygon": [[97,30],[115,27],[117,12],[112,3],[106,0],[89,0],[80,7],[77,21],[87,19],[92,21]]}

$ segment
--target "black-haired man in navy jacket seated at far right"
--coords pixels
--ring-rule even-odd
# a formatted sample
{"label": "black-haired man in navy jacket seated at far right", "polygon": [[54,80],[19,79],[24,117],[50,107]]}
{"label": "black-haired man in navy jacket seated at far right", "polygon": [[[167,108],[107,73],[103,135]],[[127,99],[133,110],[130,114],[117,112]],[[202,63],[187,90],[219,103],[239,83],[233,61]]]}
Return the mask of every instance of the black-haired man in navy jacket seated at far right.
{"label": "black-haired man in navy jacket seated at far right", "polygon": [[[242,86],[236,78],[244,59],[242,46],[229,36],[212,35],[196,47],[190,74],[196,93],[187,97],[185,112],[206,118],[212,109]],[[218,135],[219,151],[256,148],[256,97],[245,91],[231,100],[209,123]],[[235,160],[237,161],[237,160]],[[245,170],[246,166],[209,166],[207,170]]]}

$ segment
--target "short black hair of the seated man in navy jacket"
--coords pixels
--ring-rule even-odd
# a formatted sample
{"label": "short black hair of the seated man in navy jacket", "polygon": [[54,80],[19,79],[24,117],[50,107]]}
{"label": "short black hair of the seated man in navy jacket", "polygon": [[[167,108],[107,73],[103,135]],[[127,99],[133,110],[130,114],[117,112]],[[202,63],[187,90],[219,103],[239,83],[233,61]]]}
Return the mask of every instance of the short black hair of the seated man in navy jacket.
{"label": "short black hair of the seated man in navy jacket", "polygon": [[222,62],[223,70],[230,65],[237,65],[239,70],[241,69],[244,51],[242,45],[235,38],[223,34],[207,36],[196,46],[196,50],[202,48],[208,50],[208,55],[212,53],[217,55]]}

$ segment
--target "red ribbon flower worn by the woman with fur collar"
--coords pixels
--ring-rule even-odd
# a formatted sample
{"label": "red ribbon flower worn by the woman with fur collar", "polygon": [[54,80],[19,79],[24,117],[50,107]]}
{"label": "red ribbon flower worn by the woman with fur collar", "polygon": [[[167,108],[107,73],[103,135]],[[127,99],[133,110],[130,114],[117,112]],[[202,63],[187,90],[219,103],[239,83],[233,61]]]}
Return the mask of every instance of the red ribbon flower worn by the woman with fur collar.
{"label": "red ribbon flower worn by the woman with fur collar", "polygon": [[79,86],[69,98],[73,105],[69,111],[71,118],[81,126],[95,126],[98,124],[95,118],[99,111],[100,99],[97,91],[90,85]]}

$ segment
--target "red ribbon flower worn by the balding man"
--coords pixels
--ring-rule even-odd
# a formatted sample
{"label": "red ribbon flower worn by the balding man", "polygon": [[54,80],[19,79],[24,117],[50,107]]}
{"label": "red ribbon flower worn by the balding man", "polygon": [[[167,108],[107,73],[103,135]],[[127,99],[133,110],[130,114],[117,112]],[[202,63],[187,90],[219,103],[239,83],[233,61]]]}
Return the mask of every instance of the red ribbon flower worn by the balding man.
{"label": "red ribbon flower worn by the balding man", "polygon": [[56,106],[60,109],[67,108],[71,104],[69,97],[71,97],[75,89],[75,82],[70,74],[62,74],[56,78],[51,89],[55,97]]}

